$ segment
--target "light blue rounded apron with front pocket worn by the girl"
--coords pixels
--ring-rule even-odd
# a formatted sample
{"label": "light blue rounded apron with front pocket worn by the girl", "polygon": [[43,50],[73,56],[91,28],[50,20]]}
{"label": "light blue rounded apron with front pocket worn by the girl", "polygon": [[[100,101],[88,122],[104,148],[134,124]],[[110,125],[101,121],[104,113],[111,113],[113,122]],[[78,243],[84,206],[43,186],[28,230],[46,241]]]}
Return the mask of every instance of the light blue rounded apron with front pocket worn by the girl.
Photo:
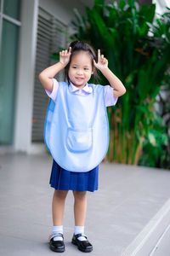
{"label": "light blue rounded apron with front pocket worn by the girl", "polygon": [[59,82],[56,102],[50,99],[44,141],[54,160],[71,172],[88,172],[104,159],[109,146],[105,87],[88,84],[93,92],[77,95]]}

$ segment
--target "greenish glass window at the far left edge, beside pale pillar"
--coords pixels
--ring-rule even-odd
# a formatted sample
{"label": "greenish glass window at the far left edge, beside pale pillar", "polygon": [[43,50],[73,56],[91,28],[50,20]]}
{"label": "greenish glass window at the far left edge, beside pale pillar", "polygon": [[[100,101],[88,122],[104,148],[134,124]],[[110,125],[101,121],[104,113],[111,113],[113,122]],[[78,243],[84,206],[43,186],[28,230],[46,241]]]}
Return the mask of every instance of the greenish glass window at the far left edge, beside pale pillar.
{"label": "greenish glass window at the far left edge, beside pale pillar", "polygon": [[13,144],[20,0],[0,0],[0,145]]}

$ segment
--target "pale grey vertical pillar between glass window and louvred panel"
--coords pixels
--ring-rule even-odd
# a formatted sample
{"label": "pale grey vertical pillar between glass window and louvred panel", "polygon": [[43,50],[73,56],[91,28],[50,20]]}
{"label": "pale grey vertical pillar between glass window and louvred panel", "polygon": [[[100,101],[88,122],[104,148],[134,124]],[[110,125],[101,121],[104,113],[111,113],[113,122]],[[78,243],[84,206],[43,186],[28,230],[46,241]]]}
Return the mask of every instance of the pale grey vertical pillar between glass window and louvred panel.
{"label": "pale grey vertical pillar between glass window and louvred panel", "polygon": [[22,0],[14,149],[27,153],[31,150],[37,16],[38,0]]}

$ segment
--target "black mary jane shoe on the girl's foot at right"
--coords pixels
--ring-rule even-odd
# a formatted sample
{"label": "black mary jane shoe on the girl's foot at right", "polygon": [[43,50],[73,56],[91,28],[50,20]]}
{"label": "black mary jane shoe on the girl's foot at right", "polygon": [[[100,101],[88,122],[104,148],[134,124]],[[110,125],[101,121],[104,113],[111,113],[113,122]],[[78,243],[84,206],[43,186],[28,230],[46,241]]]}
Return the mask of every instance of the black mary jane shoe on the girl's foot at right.
{"label": "black mary jane shoe on the girl's foot at right", "polygon": [[[78,237],[80,237],[80,236],[84,236],[87,240],[86,241],[78,240]],[[88,238],[85,235],[82,235],[82,234],[73,235],[71,242],[74,245],[76,245],[80,251],[82,251],[84,253],[90,253],[93,251],[93,246],[88,241]]]}

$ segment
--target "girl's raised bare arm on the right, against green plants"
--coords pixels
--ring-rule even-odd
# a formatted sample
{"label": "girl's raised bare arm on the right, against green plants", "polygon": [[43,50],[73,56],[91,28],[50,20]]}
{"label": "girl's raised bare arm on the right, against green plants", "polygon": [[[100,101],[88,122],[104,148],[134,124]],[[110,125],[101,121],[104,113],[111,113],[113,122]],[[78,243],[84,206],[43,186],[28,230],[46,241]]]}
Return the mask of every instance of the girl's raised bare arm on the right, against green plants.
{"label": "girl's raised bare arm on the right, against green plants", "polygon": [[94,61],[94,66],[99,69],[101,73],[105,76],[105,78],[111,84],[111,87],[114,88],[113,93],[114,97],[122,96],[126,92],[126,88],[122,84],[121,80],[116,77],[114,73],[108,67],[108,61],[104,57],[104,55],[100,55],[100,49],[98,49],[98,63]]}

